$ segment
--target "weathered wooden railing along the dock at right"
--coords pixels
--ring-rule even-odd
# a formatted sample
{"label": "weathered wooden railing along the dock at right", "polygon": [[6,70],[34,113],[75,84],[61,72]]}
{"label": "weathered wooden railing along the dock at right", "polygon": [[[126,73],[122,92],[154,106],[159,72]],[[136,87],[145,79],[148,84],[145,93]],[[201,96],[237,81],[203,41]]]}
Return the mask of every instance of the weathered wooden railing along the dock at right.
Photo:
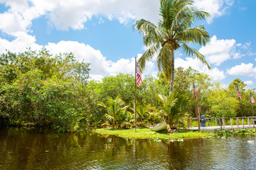
{"label": "weathered wooden railing along the dock at right", "polygon": [[[247,116],[247,117],[235,117],[235,118],[206,118],[206,126],[208,124],[208,127],[210,127],[210,120],[215,120],[215,125],[220,126],[221,130],[225,130],[225,120],[230,120],[231,129],[233,129],[233,120],[236,120],[236,125],[238,128],[240,128],[239,120],[242,120],[242,128],[245,128],[245,125],[247,125],[249,128],[255,128],[256,123],[256,116]],[[191,120],[198,120],[198,118],[188,118],[188,128],[191,128]],[[235,128],[235,127],[234,127]],[[198,127],[200,130],[200,128]]]}

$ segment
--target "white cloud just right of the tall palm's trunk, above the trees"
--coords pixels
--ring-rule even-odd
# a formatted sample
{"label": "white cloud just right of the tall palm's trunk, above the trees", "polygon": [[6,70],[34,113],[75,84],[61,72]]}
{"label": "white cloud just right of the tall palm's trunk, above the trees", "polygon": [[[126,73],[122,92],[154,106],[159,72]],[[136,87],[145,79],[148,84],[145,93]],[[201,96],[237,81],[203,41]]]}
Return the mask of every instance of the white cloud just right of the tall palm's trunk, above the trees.
{"label": "white cloud just right of the tall palm's trunk, above the trees", "polygon": [[225,74],[223,71],[219,70],[218,68],[208,69],[206,65],[204,65],[200,60],[193,59],[191,57],[187,57],[186,60],[183,60],[181,58],[177,58],[175,60],[175,67],[183,67],[184,69],[188,69],[188,67],[191,67],[193,69],[198,70],[201,73],[206,73],[210,75],[210,77],[213,78],[215,81],[220,81],[225,79]]}

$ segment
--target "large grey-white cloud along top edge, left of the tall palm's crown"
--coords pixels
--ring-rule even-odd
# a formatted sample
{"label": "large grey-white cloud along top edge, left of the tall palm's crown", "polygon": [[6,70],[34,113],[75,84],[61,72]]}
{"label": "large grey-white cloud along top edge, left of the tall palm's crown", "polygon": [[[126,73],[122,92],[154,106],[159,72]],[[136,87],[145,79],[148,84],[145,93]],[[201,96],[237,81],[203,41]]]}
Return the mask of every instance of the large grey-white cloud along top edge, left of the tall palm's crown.
{"label": "large grey-white cloud along top edge, left of the tall palm's crown", "polygon": [[81,29],[92,16],[105,16],[120,23],[140,18],[157,23],[158,13],[158,0],[70,0],[55,3],[55,10],[50,11],[50,21],[62,30]]}

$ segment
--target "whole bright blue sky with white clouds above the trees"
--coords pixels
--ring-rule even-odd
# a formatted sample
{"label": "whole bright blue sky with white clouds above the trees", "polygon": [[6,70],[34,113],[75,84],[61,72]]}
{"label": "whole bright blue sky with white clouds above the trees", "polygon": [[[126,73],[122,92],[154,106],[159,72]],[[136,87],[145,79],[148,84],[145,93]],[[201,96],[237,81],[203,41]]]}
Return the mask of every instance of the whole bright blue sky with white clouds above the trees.
{"label": "whole bright blue sky with white clouds above the trees", "polygon": [[[235,78],[247,88],[256,85],[255,0],[195,0],[194,5],[211,14],[205,26],[211,37],[205,47],[195,45],[212,67],[175,54],[176,67],[188,66],[228,84]],[[141,18],[157,23],[158,0],[1,0],[0,52],[24,52],[27,47],[53,54],[73,52],[90,62],[92,79],[119,72],[134,74],[134,57],[145,52],[142,35],[132,30]],[[155,60],[143,75],[156,76]]]}

